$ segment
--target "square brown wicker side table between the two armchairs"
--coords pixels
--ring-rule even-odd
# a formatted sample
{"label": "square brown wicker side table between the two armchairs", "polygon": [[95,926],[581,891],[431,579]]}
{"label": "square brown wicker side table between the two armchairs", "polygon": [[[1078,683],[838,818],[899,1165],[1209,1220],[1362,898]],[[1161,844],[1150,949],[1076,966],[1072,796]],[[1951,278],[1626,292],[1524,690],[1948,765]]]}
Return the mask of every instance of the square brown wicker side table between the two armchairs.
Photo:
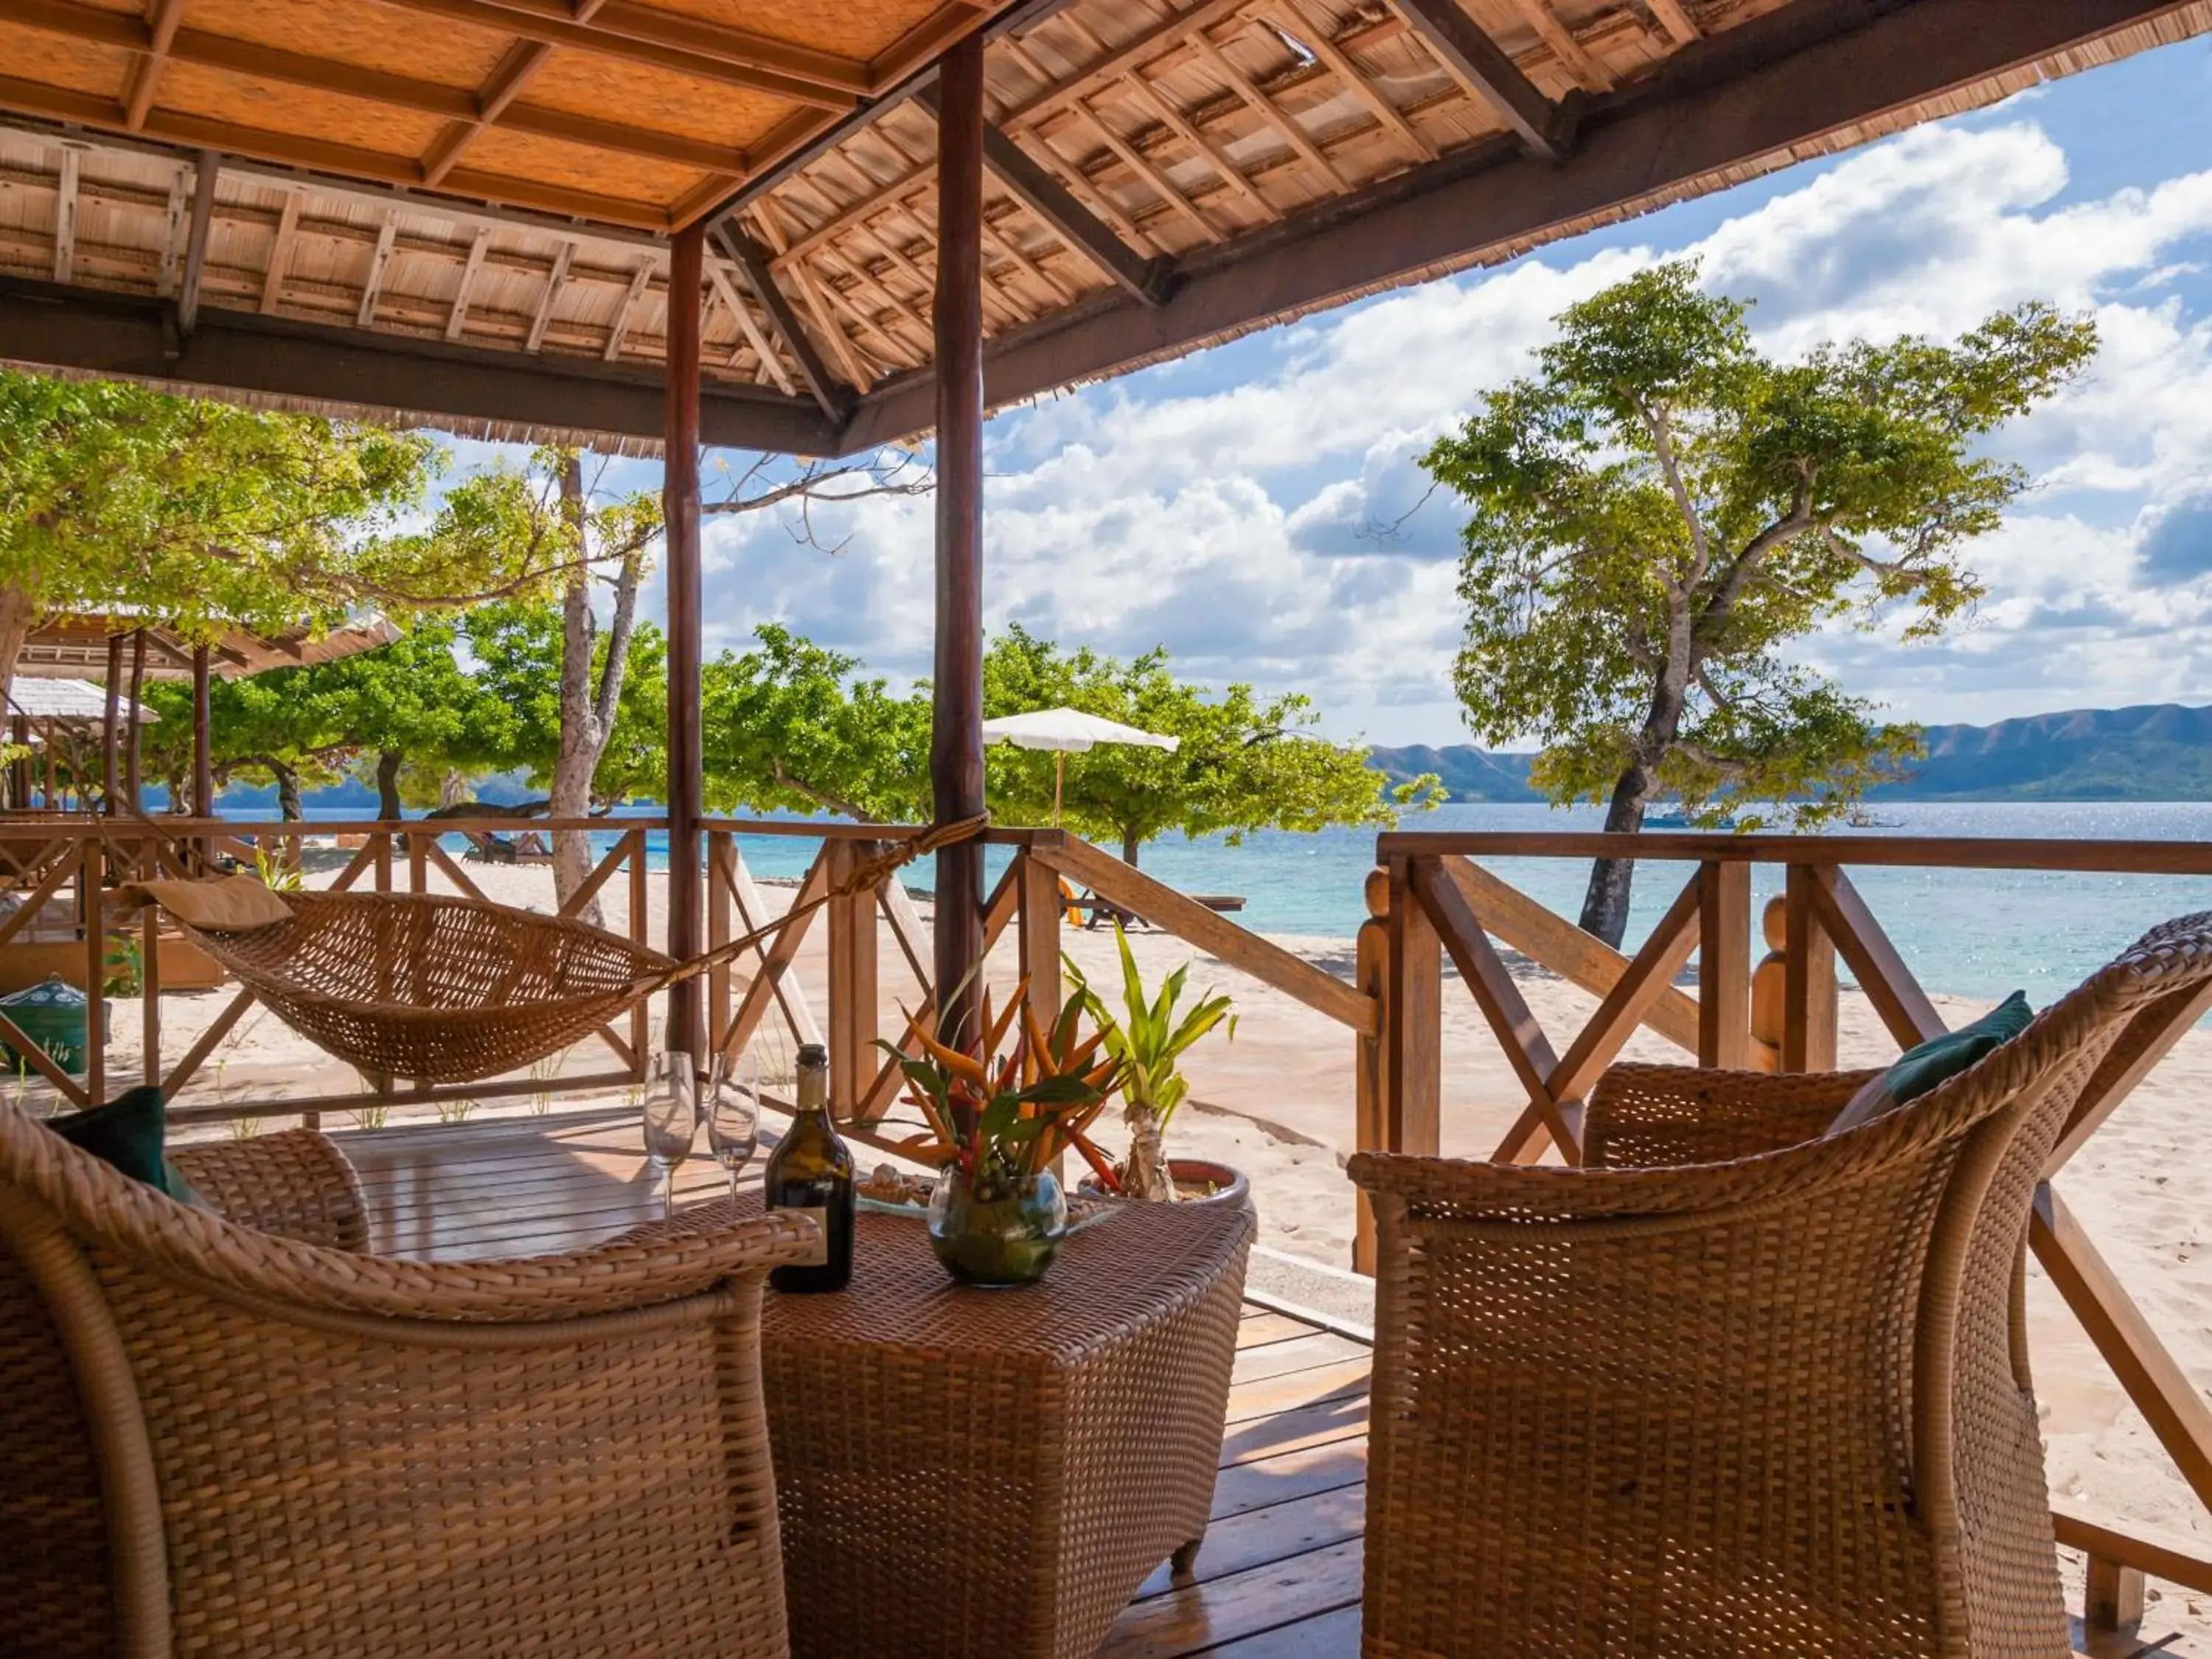
{"label": "square brown wicker side table between the two armchairs", "polygon": [[852,1290],[768,1292],[792,1652],[1095,1655],[1206,1533],[1252,1232],[1135,1203],[1042,1285],[962,1290],[920,1221],[863,1212]]}

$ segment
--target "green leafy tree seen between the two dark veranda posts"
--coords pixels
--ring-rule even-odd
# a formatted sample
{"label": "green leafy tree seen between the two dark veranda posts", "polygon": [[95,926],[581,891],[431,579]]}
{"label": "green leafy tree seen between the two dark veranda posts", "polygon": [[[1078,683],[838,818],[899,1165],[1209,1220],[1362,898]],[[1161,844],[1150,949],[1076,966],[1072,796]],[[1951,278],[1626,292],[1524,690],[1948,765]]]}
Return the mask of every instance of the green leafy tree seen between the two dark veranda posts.
{"label": "green leafy tree seen between the two dark veranda posts", "polygon": [[860,661],[768,624],[706,664],[706,796],[717,812],[929,816],[929,701],[858,679]]}

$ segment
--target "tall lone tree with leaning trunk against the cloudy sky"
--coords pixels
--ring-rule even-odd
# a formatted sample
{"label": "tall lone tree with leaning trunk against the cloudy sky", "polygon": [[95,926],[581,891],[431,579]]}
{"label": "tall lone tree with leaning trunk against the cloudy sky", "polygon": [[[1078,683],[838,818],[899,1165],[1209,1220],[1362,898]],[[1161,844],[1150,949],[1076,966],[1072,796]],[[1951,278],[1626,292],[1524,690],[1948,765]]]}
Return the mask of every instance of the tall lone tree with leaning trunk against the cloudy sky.
{"label": "tall lone tree with leaning trunk against the cloudy sky", "polygon": [[[1756,349],[1694,263],[1566,310],[1535,374],[1491,392],[1422,465],[1473,515],[1455,664],[1484,743],[1535,737],[1553,801],[1635,832],[1659,794],[1703,821],[1787,803],[1816,825],[1918,754],[1785,648],[1836,617],[1942,630],[1982,584],[1964,544],[2026,487],[1980,440],[2095,354],[2048,305],[1951,345]],[[1632,863],[1590,872],[1582,925],[1619,945]]]}

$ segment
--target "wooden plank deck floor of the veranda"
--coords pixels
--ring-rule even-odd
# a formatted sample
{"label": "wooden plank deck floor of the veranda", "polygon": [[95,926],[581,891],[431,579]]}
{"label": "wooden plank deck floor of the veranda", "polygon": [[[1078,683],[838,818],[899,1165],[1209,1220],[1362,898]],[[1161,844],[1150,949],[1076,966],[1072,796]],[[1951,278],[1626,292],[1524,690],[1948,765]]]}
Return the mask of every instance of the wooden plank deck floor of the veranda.
{"label": "wooden plank deck floor of the veranda", "polygon": [[[657,1219],[664,1206],[628,1110],[336,1130],[336,1139],[361,1170],[378,1248],[392,1254],[460,1261],[573,1250]],[[679,1203],[721,1190],[721,1170],[706,1157],[677,1170]],[[1248,1303],[1237,1349],[1197,1582],[1170,1586],[1164,1564],[1102,1657],[1358,1652],[1367,1347]]]}

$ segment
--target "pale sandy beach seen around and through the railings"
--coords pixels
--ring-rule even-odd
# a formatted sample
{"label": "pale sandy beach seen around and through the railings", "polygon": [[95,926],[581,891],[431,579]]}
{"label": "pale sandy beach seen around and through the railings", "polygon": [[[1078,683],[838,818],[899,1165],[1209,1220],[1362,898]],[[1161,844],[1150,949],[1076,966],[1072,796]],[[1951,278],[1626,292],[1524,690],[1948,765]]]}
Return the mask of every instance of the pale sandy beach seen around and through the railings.
{"label": "pale sandy beach seen around and through the railings", "polygon": [[[469,867],[487,896],[513,905],[551,909],[546,869]],[[606,920],[624,927],[624,883],[611,883]],[[765,889],[772,905],[787,902],[790,889]],[[653,878],[650,931],[664,936],[664,880]],[[799,956],[801,987],[825,1009],[825,929],[814,927]],[[1071,931],[1068,951],[1091,973],[1113,982],[1117,973],[1110,933]],[[1279,938],[1279,945],[1334,973],[1349,975],[1347,940]],[[1135,936],[1148,982],[1197,956],[1192,989],[1219,987],[1237,998],[1234,1042],[1208,1040],[1188,1062],[1194,1102],[1177,1119],[1172,1150],[1214,1157],[1250,1172],[1263,1221],[1263,1243],[1323,1263],[1349,1261],[1352,1190],[1343,1159],[1352,1144],[1354,1040],[1343,1026],[1310,1011],[1281,991],[1234,973],[1183,940],[1164,933]],[[1011,984],[1013,929],[993,953],[991,978]],[[1555,975],[1515,964],[1531,1009],[1564,1048],[1588,1018],[1595,1000]],[[883,1031],[898,1031],[898,1004],[916,998],[914,975],[889,929],[883,931]],[[175,1060],[223,1009],[228,991],[164,998],[164,1051]],[[1982,1004],[1936,998],[1947,1020],[1971,1018]],[[655,1011],[655,1026],[657,1026]],[[774,1026],[774,1018],[770,1022]],[[137,1004],[117,1006],[111,1077],[137,1073]],[[790,1037],[770,1031],[765,1048],[787,1051]],[[1871,1006],[1856,991],[1843,998],[1843,1064],[1880,1064],[1896,1053]],[[584,1075],[604,1071],[613,1057],[597,1044],[582,1044],[562,1057],[560,1071]],[[1639,1060],[1683,1060],[1650,1033],[1639,1033],[1628,1051]],[[2097,1133],[2068,1166],[2057,1186],[2104,1256],[2121,1274],[2152,1327],[2174,1358],[2203,1389],[2212,1383],[2212,1115],[2203,1099],[2212,1084],[2212,1033],[2197,1031]],[[184,1104],[210,1099],[285,1099],[358,1086],[349,1066],[330,1060],[294,1037],[265,1011],[250,1013],[223,1044]],[[604,1102],[622,1099],[611,1091]],[[1447,982],[1444,995],[1444,1150],[1484,1155],[1520,1110],[1520,1095],[1489,1026],[1471,998]],[[582,1104],[582,1102],[566,1102]],[[509,1110],[529,1110],[513,1102]],[[431,1117],[425,1108],[396,1110],[394,1121]],[[217,1130],[221,1133],[221,1130]],[[2053,1498],[2095,1517],[2166,1533],[2197,1551],[2212,1548],[2205,1520],[2188,1486],[2139,1411],[2121,1396],[2088,1338],[2073,1323],[2057,1294],[2035,1272],[2031,1321],[2037,1394],[2044,1405],[2046,1458]],[[2073,1593],[2079,1595],[2075,1573]],[[2152,1586],[2146,1639],[2181,1630],[2192,1639],[2212,1635],[2212,1606],[2201,1597]]]}

